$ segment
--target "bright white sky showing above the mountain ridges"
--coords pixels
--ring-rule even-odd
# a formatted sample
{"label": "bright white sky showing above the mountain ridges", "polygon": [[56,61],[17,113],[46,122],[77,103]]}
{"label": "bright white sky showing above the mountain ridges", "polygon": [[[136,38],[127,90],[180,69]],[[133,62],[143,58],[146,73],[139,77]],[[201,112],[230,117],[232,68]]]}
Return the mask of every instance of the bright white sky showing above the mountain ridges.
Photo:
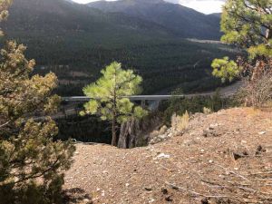
{"label": "bright white sky showing above the mountain ridges", "polygon": [[[97,0],[73,0],[74,2],[80,4],[86,4],[89,2],[94,2]],[[109,0],[114,1],[114,0]],[[221,7],[225,0],[165,0],[171,3],[185,5],[187,7],[193,8],[204,14],[212,14],[221,12]]]}

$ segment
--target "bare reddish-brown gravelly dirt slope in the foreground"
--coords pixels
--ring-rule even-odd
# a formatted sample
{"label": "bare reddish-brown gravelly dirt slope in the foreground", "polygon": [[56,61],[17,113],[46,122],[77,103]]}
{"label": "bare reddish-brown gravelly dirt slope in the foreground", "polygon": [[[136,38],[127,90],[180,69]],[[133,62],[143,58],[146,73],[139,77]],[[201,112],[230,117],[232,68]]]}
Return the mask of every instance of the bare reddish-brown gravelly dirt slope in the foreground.
{"label": "bare reddish-brown gravelly dirt slope in the foreground", "polygon": [[89,195],[81,203],[212,203],[203,195],[225,191],[209,182],[255,167],[272,171],[271,156],[272,112],[197,114],[184,135],[149,147],[77,145],[65,188]]}

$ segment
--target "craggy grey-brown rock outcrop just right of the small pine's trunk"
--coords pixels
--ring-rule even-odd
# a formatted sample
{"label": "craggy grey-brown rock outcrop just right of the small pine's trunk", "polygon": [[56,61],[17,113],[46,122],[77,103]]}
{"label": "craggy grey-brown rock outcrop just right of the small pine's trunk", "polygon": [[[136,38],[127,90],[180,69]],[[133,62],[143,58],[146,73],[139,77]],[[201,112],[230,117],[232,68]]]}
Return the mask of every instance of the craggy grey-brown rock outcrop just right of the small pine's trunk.
{"label": "craggy grey-brown rock outcrop just right of the small pine's trunk", "polygon": [[158,130],[161,126],[159,116],[153,115],[143,120],[131,119],[121,124],[118,147],[131,149],[145,146],[150,140],[151,131]]}

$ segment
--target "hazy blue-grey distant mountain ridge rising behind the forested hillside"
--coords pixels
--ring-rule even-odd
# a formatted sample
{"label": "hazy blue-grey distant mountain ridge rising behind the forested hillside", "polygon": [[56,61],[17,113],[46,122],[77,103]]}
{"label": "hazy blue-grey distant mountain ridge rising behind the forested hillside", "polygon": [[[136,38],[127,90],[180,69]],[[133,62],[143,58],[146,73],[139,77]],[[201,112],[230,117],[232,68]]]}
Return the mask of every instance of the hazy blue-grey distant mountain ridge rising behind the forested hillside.
{"label": "hazy blue-grey distant mountain ridge rising behind the forested hillside", "polygon": [[107,13],[122,13],[150,21],[184,38],[219,40],[219,16],[204,15],[163,0],[97,1],[87,4]]}

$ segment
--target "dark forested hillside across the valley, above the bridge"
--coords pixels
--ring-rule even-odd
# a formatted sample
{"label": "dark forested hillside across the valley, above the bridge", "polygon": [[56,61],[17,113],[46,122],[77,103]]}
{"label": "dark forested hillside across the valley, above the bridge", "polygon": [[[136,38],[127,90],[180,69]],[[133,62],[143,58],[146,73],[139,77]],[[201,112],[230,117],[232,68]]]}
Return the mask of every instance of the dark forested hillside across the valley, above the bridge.
{"label": "dark forested hillside across the valley, above the bridge", "polygon": [[[187,22],[176,25],[183,30],[199,26],[190,19],[206,17],[180,5],[176,9],[184,10],[183,15],[193,14],[187,19],[177,16]],[[27,57],[37,63],[35,73],[58,75],[61,95],[82,94],[83,86],[96,80],[113,60],[141,74],[144,93],[172,90],[177,85],[184,92],[208,90],[219,85],[218,80],[211,80],[211,60],[231,51],[222,44],[187,41],[141,17],[64,0],[15,0],[3,25],[6,38],[27,45]]]}

